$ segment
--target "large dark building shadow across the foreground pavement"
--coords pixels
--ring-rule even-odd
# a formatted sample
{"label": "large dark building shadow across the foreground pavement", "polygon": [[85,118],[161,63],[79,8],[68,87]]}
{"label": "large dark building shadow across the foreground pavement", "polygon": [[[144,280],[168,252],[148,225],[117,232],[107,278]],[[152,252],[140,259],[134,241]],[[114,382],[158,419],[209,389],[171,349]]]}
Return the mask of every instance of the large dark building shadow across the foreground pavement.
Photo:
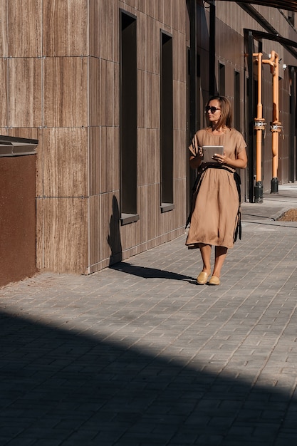
{"label": "large dark building shadow across the foreground pavement", "polygon": [[[120,343],[1,313],[4,445],[296,445],[297,401]],[[160,353],[160,352],[159,352]]]}

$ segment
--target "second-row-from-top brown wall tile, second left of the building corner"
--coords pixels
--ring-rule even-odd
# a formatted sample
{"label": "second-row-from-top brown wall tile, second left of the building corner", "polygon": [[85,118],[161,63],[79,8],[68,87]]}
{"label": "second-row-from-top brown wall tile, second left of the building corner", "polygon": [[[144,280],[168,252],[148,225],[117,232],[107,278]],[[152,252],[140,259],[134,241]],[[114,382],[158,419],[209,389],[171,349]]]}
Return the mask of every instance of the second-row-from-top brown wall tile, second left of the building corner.
{"label": "second-row-from-top brown wall tile, second left of the building corner", "polygon": [[8,67],[8,125],[41,126],[41,58],[9,58]]}

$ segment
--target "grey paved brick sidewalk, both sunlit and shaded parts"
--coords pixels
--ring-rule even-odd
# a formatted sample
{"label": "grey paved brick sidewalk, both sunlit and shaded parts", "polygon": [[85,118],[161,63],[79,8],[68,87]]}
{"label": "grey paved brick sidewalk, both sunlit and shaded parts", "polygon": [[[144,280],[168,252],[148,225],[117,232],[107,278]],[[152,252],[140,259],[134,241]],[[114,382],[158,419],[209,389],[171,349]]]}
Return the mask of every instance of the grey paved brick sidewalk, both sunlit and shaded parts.
{"label": "grey paved brick sidewalk, both sunlit and shaded parts", "polygon": [[0,445],[296,446],[296,198],[243,204],[221,286],[184,236],[0,289]]}

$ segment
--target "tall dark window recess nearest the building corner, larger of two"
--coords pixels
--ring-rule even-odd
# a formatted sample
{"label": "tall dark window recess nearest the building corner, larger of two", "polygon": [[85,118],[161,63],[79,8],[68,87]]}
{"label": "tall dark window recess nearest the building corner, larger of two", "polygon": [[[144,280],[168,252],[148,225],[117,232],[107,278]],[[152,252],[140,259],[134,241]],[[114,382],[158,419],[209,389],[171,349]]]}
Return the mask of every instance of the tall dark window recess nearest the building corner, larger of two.
{"label": "tall dark window recess nearest the building corner, larger of two", "polygon": [[136,18],[120,11],[120,220],[137,215],[137,45]]}

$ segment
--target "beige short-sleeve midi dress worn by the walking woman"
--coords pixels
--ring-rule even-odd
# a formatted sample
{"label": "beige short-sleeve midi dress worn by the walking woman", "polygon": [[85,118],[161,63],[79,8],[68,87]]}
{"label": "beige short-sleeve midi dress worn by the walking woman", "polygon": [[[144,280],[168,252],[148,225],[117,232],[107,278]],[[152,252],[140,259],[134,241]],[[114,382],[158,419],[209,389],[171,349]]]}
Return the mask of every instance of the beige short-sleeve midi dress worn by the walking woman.
{"label": "beige short-sleeve midi dress worn by the walking woman", "polygon": [[[236,160],[237,155],[246,150],[246,142],[234,128],[226,129],[222,135],[214,135],[208,129],[198,130],[197,145],[189,146],[193,155],[203,145],[224,145],[226,156]],[[202,175],[197,185],[198,192],[193,196],[192,217],[186,245],[198,248],[199,244],[232,248],[234,232],[238,222],[239,193],[234,180],[235,170],[212,168],[201,165]]]}

